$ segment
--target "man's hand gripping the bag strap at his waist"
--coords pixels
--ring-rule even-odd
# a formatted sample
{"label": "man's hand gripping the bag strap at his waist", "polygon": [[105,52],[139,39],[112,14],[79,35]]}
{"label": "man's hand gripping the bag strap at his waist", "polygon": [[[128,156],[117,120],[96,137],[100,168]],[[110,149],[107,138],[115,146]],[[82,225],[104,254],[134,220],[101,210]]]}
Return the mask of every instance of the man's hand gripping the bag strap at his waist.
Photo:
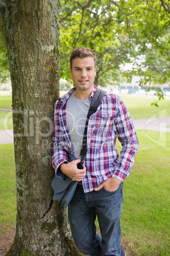
{"label": "man's hand gripping the bag strap at his waist", "polygon": [[60,170],[72,180],[81,181],[86,174],[86,167],[83,166],[83,169],[78,169],[77,164],[80,161],[81,159],[77,159],[72,162],[68,162],[67,164],[63,163],[60,166]]}

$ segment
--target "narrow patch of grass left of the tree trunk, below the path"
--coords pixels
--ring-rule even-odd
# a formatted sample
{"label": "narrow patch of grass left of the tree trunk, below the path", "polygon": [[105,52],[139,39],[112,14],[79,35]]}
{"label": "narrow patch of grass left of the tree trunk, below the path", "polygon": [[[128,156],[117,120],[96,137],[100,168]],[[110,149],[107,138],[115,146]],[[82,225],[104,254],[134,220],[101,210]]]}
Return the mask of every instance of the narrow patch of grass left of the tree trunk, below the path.
{"label": "narrow patch of grass left of the tree trunk, below the path", "polygon": [[[16,178],[13,144],[0,145],[0,230],[8,232],[16,221]],[[1,236],[0,236],[1,237]]]}

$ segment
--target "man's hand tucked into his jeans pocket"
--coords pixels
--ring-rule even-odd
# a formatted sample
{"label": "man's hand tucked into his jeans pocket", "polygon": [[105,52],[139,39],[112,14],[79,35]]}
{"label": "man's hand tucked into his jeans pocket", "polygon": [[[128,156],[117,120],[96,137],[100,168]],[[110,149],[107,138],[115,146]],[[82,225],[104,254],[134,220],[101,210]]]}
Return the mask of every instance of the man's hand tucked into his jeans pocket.
{"label": "man's hand tucked into his jeans pocket", "polygon": [[121,180],[117,178],[110,178],[108,180],[103,181],[98,187],[95,188],[96,191],[100,190],[101,188],[105,188],[105,190],[113,192],[119,188]]}

